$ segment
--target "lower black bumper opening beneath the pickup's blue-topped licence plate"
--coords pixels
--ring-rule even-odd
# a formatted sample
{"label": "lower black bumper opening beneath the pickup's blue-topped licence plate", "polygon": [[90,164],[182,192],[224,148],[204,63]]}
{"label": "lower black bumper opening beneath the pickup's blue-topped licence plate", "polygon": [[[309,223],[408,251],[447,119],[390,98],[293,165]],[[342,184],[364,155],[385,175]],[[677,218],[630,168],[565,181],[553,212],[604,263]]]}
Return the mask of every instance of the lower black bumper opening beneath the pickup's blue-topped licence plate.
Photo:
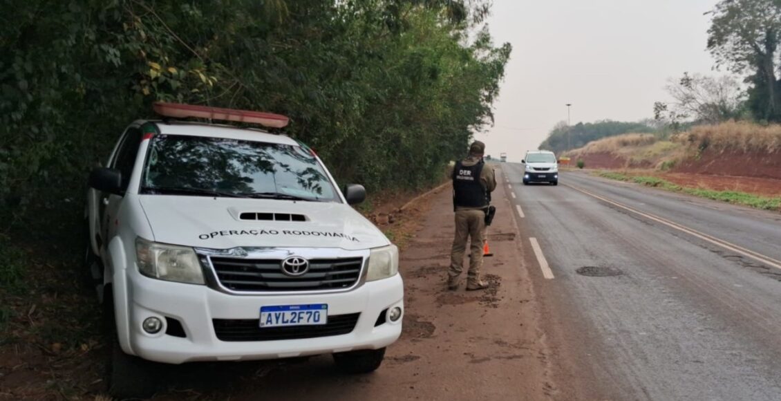
{"label": "lower black bumper opening beneath the pickup's blue-topped licence plate", "polygon": [[274,341],[346,335],[355,329],[361,313],[334,315],[327,324],[260,328],[258,319],[212,319],[214,332],[221,341]]}

